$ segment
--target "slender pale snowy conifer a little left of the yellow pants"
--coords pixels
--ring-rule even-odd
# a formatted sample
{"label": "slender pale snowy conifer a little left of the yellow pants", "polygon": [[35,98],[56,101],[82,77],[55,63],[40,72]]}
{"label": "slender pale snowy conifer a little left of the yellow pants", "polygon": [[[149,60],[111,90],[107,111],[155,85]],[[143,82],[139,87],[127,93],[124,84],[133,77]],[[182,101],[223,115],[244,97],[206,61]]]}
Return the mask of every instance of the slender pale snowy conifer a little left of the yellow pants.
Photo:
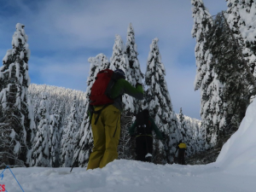
{"label": "slender pale snowy conifer a little left of the yellow pants", "polygon": [[73,163],[73,150],[75,137],[79,131],[78,125],[78,109],[76,97],[73,98],[73,106],[71,108],[71,113],[67,119],[67,127],[65,127],[65,135],[63,135],[61,140],[61,165],[64,167],[72,166]]}

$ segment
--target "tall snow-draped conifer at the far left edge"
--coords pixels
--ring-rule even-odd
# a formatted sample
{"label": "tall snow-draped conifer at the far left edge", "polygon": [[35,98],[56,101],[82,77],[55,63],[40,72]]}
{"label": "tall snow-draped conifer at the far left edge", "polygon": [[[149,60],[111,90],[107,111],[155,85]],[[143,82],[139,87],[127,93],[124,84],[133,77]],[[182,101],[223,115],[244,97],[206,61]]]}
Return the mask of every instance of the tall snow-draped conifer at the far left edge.
{"label": "tall snow-draped conifer at the far left edge", "polygon": [[[10,135],[7,131],[5,134],[5,137],[11,137],[9,139],[13,143],[13,147],[9,146],[12,149],[6,151],[5,154],[26,162],[26,153],[31,147],[30,132],[33,117],[27,98],[27,89],[30,84],[28,76],[30,49],[26,43],[27,36],[24,27],[20,23],[16,25],[16,32],[12,39],[13,49],[7,50],[3,57],[3,67],[0,67],[0,104],[4,123],[11,128],[10,131],[13,133]],[[24,147],[21,148],[21,146]],[[9,165],[16,166],[15,161],[10,160]]]}

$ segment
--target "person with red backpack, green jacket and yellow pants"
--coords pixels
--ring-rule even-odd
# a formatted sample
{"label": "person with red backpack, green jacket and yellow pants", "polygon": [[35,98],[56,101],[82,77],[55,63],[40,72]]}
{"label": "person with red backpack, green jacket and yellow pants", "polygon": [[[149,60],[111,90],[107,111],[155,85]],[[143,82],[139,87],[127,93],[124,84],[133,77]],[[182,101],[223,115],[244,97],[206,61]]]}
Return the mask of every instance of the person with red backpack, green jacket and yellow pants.
{"label": "person with red backpack, green jacket and yellow pants", "polygon": [[125,73],[121,69],[114,72],[102,70],[96,76],[91,87],[90,106],[93,107],[91,129],[94,147],[90,154],[88,169],[104,167],[118,158],[118,144],[120,137],[120,113],[122,112],[122,96],[128,94],[143,100],[143,86],[136,88],[125,80]]}

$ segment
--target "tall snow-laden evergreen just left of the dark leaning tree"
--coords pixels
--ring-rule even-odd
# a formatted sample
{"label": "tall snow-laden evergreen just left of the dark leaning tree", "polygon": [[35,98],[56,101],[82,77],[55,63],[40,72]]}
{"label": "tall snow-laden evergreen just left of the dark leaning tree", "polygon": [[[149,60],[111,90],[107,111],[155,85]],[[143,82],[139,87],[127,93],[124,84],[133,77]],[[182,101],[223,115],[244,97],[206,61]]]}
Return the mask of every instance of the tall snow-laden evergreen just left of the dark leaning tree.
{"label": "tall snow-laden evergreen just left of the dark leaning tree", "polygon": [[195,90],[201,89],[201,119],[205,147],[213,147],[224,129],[224,98],[222,87],[215,73],[215,62],[212,61],[212,53],[206,46],[207,32],[212,29],[213,20],[205,8],[202,0],[191,0],[194,26],[192,36],[196,38],[195,59],[196,77]]}

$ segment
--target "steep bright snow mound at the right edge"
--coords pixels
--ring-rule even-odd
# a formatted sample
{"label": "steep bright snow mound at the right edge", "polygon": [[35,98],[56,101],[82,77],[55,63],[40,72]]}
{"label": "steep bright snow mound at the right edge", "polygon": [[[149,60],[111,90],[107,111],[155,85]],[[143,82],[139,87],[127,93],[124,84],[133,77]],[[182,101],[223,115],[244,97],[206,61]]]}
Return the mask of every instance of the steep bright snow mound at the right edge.
{"label": "steep bright snow mound at the right edge", "polygon": [[[256,100],[247,108],[239,129],[224,144],[216,163],[229,172],[253,175],[256,170]],[[237,172],[238,171],[238,172]]]}

